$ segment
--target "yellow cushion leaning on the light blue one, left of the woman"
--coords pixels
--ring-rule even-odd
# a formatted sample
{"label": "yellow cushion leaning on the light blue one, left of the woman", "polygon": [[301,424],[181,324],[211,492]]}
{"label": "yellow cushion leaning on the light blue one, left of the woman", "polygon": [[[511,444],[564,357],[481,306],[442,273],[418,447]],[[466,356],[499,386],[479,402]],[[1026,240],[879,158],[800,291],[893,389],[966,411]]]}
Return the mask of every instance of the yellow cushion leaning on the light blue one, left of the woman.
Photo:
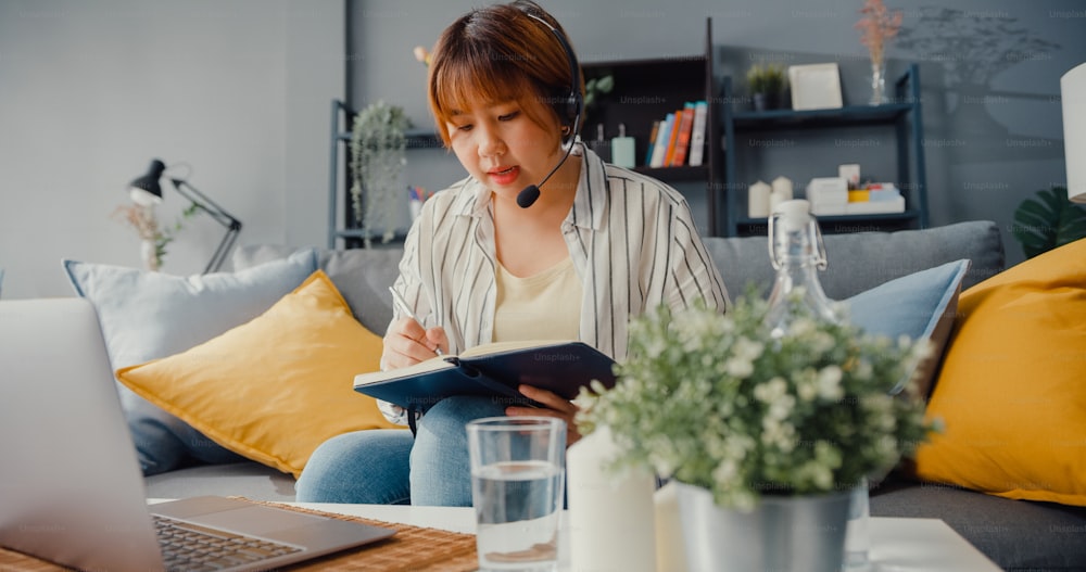
{"label": "yellow cushion leaning on the light blue one, left of the woman", "polygon": [[397,427],[353,389],[380,356],[381,339],[317,270],[252,321],[117,379],[212,441],[296,478],[329,437]]}

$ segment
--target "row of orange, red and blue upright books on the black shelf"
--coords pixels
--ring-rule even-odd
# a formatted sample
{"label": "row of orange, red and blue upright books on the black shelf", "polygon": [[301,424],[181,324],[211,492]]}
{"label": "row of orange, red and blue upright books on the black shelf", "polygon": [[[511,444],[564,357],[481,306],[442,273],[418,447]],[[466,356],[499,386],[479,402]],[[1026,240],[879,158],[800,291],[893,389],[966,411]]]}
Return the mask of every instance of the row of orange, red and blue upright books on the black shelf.
{"label": "row of orange, red and blue upright books on the black shelf", "polygon": [[702,165],[705,157],[705,131],[708,105],[691,101],[681,110],[653,122],[648,136],[645,165],[649,167],[682,167]]}

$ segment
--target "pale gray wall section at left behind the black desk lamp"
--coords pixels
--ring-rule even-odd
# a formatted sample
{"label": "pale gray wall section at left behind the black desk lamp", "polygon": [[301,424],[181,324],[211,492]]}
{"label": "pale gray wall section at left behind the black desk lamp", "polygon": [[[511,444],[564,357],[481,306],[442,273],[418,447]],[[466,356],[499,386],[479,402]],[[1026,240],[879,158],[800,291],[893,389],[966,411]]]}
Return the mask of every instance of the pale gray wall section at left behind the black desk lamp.
{"label": "pale gray wall section at left behind the black desk lamp", "polygon": [[[191,165],[240,243],[323,245],[343,14],[343,0],[0,2],[4,297],[72,295],[62,258],[139,266],[111,213],[152,157]],[[167,189],[160,218],[184,206]],[[164,270],[201,271],[224,232],[192,219]]]}

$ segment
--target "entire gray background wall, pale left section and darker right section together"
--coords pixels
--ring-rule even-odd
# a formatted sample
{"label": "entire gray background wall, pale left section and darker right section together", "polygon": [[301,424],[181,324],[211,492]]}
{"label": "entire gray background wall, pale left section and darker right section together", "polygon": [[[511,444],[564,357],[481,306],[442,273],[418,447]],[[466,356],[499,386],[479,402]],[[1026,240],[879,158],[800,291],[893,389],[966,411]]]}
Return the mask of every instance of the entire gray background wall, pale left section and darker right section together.
{"label": "entire gray background wall, pale left section and darker right section together", "polygon": [[[192,166],[244,223],[240,242],[325,244],[330,100],[383,98],[429,126],[412,48],[476,3],[354,0],[344,17],[344,0],[0,1],[4,297],[71,295],[62,258],[138,266],[135,233],[110,214],[155,156]],[[699,53],[712,16],[720,75],[763,56],[837,61],[846,99],[862,87],[859,0],[543,3],[585,61]],[[889,3],[912,35],[889,50],[891,73],[922,66],[933,224],[1008,229],[1023,198],[1065,180],[1059,77],[1086,60],[1082,2],[958,0],[952,33],[925,22],[943,15],[935,2]],[[462,173],[444,151],[413,151],[404,177],[437,189]],[[697,209],[700,191],[681,190]],[[181,206],[167,194],[160,216]],[[200,271],[222,233],[193,219],[165,271]]]}

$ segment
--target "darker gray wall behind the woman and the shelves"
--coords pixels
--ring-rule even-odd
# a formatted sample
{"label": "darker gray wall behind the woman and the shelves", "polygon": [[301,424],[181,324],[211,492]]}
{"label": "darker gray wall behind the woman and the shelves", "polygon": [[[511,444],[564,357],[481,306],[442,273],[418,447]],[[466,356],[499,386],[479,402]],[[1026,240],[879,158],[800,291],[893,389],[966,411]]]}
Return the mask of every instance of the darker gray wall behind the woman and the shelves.
{"label": "darker gray wall behind the woman and the shelves", "polygon": [[[416,125],[429,126],[426,73],[412,48],[432,45],[441,29],[479,3],[350,0],[352,104],[395,101]],[[761,60],[838,62],[846,103],[867,98],[867,49],[853,28],[860,0],[541,3],[563,22],[585,62],[700,53],[705,18],[711,16],[718,79],[742,76]],[[910,62],[921,66],[931,224],[995,220],[1003,229],[1009,260],[1020,260],[1010,234],[1014,208],[1034,191],[1066,182],[1059,78],[1086,61],[1086,5],[1081,0],[887,4],[906,12],[902,35],[887,52],[888,75],[896,77]],[[822,144],[833,145],[833,137]],[[415,185],[441,188],[463,173],[443,153],[412,153],[405,177]],[[823,167],[804,164],[803,153],[786,161],[796,162],[793,173]],[[828,175],[835,167],[826,165]],[[787,165],[772,168],[790,175]],[[697,186],[680,190],[695,211],[704,208]]]}

